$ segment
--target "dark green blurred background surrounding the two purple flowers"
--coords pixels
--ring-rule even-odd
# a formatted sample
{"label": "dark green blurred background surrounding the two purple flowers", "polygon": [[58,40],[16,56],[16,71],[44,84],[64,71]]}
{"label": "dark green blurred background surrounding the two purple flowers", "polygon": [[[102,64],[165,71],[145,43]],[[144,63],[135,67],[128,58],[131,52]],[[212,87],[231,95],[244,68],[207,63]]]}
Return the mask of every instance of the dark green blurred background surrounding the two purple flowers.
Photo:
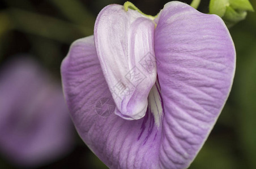
{"label": "dark green blurred background surrounding the two purple flowers", "polygon": [[[28,54],[61,85],[59,67],[69,46],[93,34],[97,14],[121,0],[1,0],[0,70],[8,60]],[[131,1],[145,14],[156,15],[168,1]],[[182,2],[190,3],[191,1]],[[251,0],[256,9],[256,1]],[[198,10],[208,12],[209,1]],[[256,168],[256,14],[230,30],[237,52],[231,94],[206,144],[189,167]],[[1,104],[0,104],[1,105]],[[1,113],[1,112],[0,112]],[[1,136],[0,136],[1,137]],[[107,168],[75,135],[75,147],[54,162],[35,168]],[[22,146],[22,145],[20,145]],[[0,168],[24,168],[0,152]]]}

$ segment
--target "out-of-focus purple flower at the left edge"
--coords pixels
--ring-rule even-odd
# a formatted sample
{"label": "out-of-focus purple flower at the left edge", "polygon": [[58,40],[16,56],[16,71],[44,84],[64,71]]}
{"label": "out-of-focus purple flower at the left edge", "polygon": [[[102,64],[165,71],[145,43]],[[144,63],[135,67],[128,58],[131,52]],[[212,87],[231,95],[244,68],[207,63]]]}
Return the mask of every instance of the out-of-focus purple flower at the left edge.
{"label": "out-of-focus purple flower at the left edge", "polygon": [[0,72],[0,150],[16,165],[34,167],[72,148],[73,127],[61,86],[21,57]]}

